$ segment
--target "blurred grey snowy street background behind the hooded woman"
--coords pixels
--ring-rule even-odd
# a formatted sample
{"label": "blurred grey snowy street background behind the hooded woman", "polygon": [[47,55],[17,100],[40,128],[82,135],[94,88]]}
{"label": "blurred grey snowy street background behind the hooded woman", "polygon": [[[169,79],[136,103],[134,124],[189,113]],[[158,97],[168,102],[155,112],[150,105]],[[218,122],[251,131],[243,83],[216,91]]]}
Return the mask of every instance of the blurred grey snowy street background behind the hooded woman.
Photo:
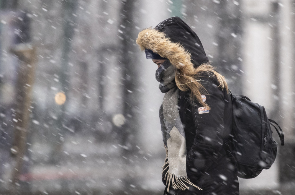
{"label": "blurred grey snowy street background behind the hooded woman", "polygon": [[172,16],[285,133],[241,194],[294,194],[294,0],[1,0],[0,194],[162,194],[163,94],[135,40]]}

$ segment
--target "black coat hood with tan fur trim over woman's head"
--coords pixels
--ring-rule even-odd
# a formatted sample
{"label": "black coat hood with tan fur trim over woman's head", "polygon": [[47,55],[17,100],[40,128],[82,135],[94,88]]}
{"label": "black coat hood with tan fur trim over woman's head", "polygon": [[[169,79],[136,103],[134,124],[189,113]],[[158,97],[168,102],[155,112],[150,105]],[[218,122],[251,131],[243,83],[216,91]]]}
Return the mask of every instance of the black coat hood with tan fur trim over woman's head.
{"label": "black coat hood with tan fur trim over woman's head", "polygon": [[209,62],[199,37],[179,17],[168,18],[154,29],[142,30],[136,43],[141,50],[150,49],[167,58],[177,69]]}

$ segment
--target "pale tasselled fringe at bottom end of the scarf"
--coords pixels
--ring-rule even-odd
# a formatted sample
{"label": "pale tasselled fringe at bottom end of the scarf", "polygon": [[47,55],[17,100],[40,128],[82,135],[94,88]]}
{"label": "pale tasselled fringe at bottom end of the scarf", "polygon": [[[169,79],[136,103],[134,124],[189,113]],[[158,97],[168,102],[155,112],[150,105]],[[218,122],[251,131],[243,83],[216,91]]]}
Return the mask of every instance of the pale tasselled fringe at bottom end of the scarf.
{"label": "pale tasselled fringe at bottom end of the scarf", "polygon": [[174,175],[173,173],[170,172],[169,170],[169,161],[168,161],[168,151],[166,150],[166,158],[165,158],[165,164],[162,166],[163,172],[167,169],[167,172],[164,176],[164,179],[166,180],[166,185],[168,183],[168,187],[167,187],[167,192],[169,192],[169,188],[170,185],[172,186],[173,189],[181,189],[181,190],[186,190],[189,189],[189,185],[194,186],[195,188],[202,190],[201,188],[199,188],[198,186],[196,186],[195,184],[191,183],[191,181],[189,181],[189,178],[187,177],[178,177],[176,175]]}

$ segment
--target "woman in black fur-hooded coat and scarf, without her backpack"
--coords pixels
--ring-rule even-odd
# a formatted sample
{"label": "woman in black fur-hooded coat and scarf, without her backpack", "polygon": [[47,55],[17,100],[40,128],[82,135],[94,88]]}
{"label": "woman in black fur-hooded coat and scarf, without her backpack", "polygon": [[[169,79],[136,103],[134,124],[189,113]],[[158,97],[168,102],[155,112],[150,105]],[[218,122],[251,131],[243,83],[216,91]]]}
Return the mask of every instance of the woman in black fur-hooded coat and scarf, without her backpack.
{"label": "woman in black fur-hooded coat and scarf, without her backpack", "polygon": [[179,17],[142,30],[136,43],[158,65],[165,93],[160,122],[164,194],[239,194],[235,161],[224,150],[232,129],[227,83],[198,36]]}

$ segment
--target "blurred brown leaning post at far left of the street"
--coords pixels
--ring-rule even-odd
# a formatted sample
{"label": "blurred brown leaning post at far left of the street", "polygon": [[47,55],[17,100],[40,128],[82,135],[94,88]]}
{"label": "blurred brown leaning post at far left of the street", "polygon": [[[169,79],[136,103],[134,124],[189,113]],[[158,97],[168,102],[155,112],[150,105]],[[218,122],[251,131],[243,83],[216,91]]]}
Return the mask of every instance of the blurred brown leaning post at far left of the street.
{"label": "blurred brown leaning post at far left of the street", "polygon": [[11,185],[12,192],[16,192],[18,176],[22,173],[24,155],[27,150],[26,141],[30,124],[30,106],[32,104],[32,88],[36,69],[36,51],[29,44],[15,45],[12,52],[19,58],[18,77],[16,83],[15,134],[11,153],[12,162]]}

